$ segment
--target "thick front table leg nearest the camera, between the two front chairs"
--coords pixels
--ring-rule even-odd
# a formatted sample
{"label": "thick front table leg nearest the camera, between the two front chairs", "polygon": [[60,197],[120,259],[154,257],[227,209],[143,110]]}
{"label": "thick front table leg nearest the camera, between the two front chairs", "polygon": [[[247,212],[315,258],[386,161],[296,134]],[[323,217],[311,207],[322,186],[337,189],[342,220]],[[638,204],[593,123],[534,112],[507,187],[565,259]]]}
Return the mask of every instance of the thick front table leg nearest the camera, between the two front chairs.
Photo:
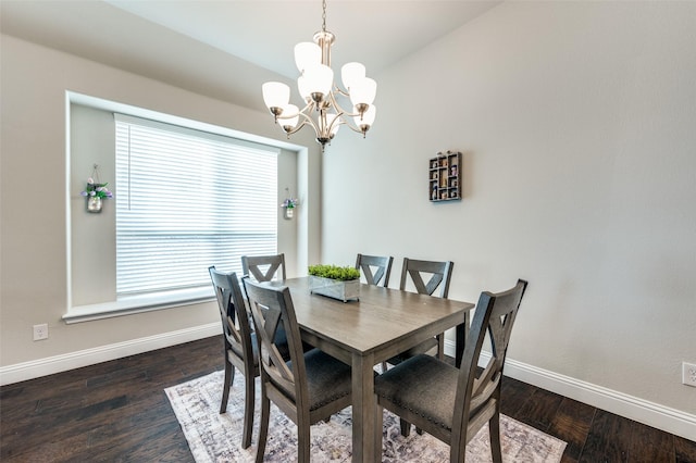
{"label": "thick front table leg nearest the camera, between the two front chairs", "polygon": [[[352,461],[375,462],[374,355],[352,354]],[[382,429],[380,429],[382,440]],[[380,447],[382,451],[382,447]]]}

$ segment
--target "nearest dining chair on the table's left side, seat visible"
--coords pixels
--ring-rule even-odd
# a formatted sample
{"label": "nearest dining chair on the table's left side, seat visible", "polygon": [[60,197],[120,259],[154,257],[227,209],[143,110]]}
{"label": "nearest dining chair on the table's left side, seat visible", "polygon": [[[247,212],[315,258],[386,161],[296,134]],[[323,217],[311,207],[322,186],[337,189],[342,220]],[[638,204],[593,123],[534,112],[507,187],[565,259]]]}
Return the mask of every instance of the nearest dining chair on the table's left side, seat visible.
{"label": "nearest dining chair on the table's left side, seat visible", "polygon": [[[290,290],[243,278],[256,325],[261,370],[261,422],[256,461],[263,461],[271,401],[297,425],[299,462],[310,460],[310,426],[352,402],[350,366],[312,349],[304,352]],[[275,334],[283,324],[290,361],[279,354]]]}

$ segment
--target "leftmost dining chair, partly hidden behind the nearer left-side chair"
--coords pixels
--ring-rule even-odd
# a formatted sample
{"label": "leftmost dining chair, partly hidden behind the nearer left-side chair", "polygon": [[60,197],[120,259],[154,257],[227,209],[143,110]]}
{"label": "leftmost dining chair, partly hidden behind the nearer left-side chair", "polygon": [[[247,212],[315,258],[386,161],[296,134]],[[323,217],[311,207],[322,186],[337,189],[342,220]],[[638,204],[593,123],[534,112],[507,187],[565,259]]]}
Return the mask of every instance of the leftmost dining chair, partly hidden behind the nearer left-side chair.
{"label": "leftmost dining chair, partly hidden behind the nearer left-side chair", "polygon": [[244,375],[245,383],[241,447],[246,449],[251,445],[254,379],[259,376],[259,354],[256,346],[256,335],[251,329],[237,274],[234,272],[223,273],[215,270],[214,266],[209,267],[208,272],[215,289],[225,349],[225,379],[220,413],[225,413],[227,410],[229,387],[235,378],[235,368],[237,368]]}

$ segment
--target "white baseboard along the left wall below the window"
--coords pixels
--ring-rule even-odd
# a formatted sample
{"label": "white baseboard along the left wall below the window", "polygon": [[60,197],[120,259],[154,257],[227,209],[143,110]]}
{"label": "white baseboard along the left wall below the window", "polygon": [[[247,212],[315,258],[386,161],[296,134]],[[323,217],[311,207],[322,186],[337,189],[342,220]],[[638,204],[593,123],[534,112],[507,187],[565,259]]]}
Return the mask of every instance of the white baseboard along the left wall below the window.
{"label": "white baseboard along the left wall below the window", "polygon": [[96,363],[122,359],[128,355],[162,349],[170,346],[195,341],[197,339],[220,335],[222,327],[220,322],[177,331],[163,333],[125,342],[116,342],[109,346],[64,353],[30,362],[17,363],[0,368],[0,385],[34,379],[54,373],[80,368]]}

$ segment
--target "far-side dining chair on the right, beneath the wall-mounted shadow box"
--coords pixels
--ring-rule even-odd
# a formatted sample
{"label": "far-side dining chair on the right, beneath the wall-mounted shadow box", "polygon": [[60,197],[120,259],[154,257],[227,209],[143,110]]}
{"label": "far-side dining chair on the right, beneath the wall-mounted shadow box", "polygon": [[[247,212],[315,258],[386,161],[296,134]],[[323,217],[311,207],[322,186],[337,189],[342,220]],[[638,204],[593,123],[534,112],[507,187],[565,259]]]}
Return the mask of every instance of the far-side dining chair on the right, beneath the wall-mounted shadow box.
{"label": "far-side dining chair on the right, beneath the wall-mounted shadow box", "polygon": [[[452,268],[455,263],[451,261],[419,261],[415,259],[403,258],[403,265],[401,266],[401,283],[399,289],[405,291],[407,289],[407,280],[411,279],[415,290],[419,295],[432,296],[439,287],[439,297],[447,299],[449,295],[449,281],[452,277]],[[430,277],[428,277],[430,275]],[[425,283],[427,279],[427,283]],[[468,316],[468,315],[467,315]],[[432,349],[437,348],[437,358],[443,360],[445,358],[445,334],[440,333],[437,336],[426,339],[420,345],[412,347],[406,352],[401,352],[386,363],[391,365],[398,365],[407,359],[419,353],[425,353]],[[384,370],[383,364],[383,370]]]}

